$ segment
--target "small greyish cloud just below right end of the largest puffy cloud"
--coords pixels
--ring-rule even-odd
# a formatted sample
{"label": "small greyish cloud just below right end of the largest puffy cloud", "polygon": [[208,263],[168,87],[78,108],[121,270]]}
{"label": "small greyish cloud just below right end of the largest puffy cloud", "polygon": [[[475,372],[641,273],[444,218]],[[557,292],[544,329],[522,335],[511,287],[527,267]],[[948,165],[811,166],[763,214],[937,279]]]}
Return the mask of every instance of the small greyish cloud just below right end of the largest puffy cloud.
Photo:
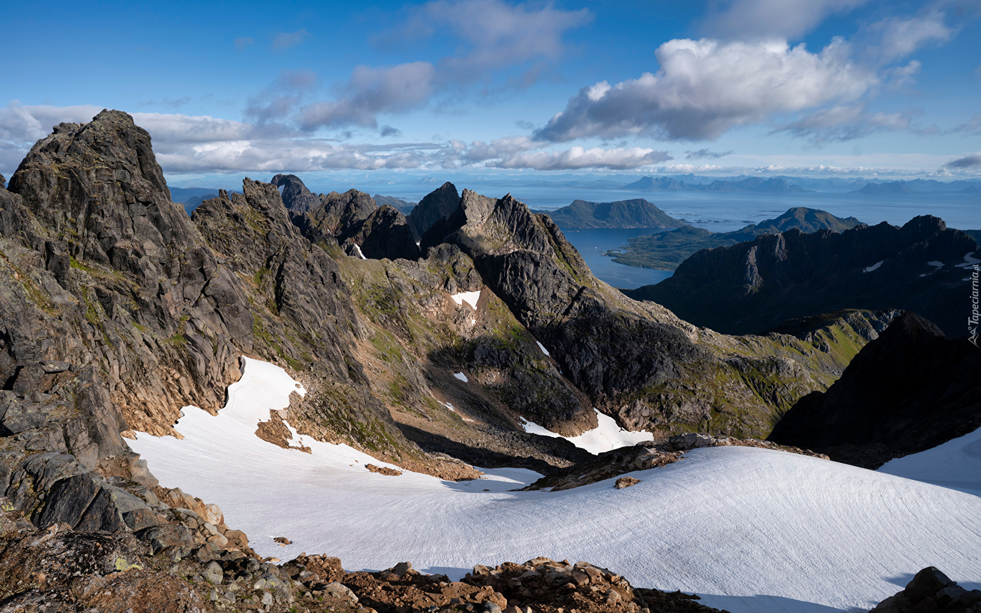
{"label": "small greyish cloud just below right end of the largest puffy cloud", "polygon": [[[912,118],[907,113],[868,113],[865,104],[836,105],[811,113],[776,131],[807,138],[814,145],[852,140],[881,131],[909,128]],[[772,133],[772,132],[771,132]]]}

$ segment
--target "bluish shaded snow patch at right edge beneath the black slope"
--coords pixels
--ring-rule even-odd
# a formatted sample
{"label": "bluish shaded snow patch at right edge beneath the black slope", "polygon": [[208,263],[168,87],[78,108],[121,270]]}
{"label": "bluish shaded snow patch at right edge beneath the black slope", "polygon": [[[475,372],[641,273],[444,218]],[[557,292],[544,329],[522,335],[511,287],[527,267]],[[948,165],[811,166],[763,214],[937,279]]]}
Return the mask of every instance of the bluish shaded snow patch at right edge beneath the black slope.
{"label": "bluish shaded snow patch at right edge beneath the black slope", "polygon": [[880,473],[981,496],[981,428],[882,465]]}

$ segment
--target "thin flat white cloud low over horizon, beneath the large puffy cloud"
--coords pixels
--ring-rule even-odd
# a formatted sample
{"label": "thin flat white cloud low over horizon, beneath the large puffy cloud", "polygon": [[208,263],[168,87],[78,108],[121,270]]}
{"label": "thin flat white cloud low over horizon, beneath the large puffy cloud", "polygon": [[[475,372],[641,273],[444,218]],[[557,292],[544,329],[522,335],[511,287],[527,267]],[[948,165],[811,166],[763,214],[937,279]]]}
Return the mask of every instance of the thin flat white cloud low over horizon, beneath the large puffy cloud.
{"label": "thin flat white cloud low over horizon, beneath the large puffy cloud", "polygon": [[579,169],[627,170],[650,166],[670,160],[666,151],[654,151],[642,147],[603,149],[571,147],[566,151],[535,151],[505,155],[501,160],[489,162],[492,168],[529,168],[537,171],[564,171]]}

